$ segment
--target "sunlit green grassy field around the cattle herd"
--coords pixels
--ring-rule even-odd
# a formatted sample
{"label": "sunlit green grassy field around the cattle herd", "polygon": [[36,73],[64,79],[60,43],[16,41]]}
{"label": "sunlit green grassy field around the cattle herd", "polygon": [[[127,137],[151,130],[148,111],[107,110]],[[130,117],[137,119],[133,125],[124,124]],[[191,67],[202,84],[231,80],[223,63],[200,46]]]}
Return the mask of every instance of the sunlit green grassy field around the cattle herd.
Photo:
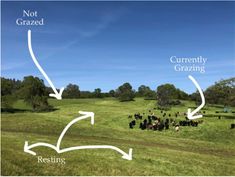
{"label": "sunlit green grassy field around the cattle herd", "polygon": [[[235,123],[232,113],[220,113],[222,107],[206,107],[203,123],[198,127],[170,130],[129,129],[128,115],[147,113],[156,101],[137,98],[132,102],[115,99],[50,100],[57,110],[34,113],[18,101],[24,112],[2,113],[1,172],[2,175],[235,175]],[[186,112],[192,102],[183,102],[170,112]],[[133,148],[133,160],[109,149],[78,150],[57,154],[47,147],[33,150],[37,156],[65,158],[66,164],[38,163],[37,156],[23,151],[24,142],[56,144],[63,128],[78,111],[95,113],[95,124],[82,120],[66,133],[62,147],[78,145],[113,145],[125,152]],[[235,108],[233,108],[235,111]],[[154,110],[156,115],[160,111]],[[177,118],[178,120],[184,117]]]}

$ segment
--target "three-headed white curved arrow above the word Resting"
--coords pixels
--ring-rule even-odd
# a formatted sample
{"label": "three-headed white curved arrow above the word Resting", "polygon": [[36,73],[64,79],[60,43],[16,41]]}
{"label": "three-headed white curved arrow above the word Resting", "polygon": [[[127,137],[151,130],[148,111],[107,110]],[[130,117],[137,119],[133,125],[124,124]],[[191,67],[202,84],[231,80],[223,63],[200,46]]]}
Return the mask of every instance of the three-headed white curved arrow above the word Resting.
{"label": "three-headed white curved arrow above the word Resting", "polygon": [[67,124],[67,126],[64,128],[64,130],[60,134],[60,136],[57,140],[56,146],[52,145],[52,144],[49,144],[49,143],[41,143],[41,142],[29,145],[28,141],[25,141],[24,152],[27,152],[27,153],[32,154],[32,155],[36,155],[36,153],[34,151],[32,151],[31,149],[35,148],[35,147],[38,147],[38,146],[50,147],[50,148],[54,149],[57,153],[64,153],[64,152],[68,152],[68,151],[81,150],[81,149],[112,149],[112,150],[115,150],[115,151],[119,152],[120,154],[122,154],[123,159],[132,160],[132,148],[129,149],[128,154],[125,153],[123,150],[121,150],[121,149],[119,149],[115,146],[110,146],[110,145],[75,146],[75,147],[60,149],[60,144],[61,144],[61,141],[62,141],[65,133],[70,128],[70,126],[72,126],[74,123],[76,123],[80,120],[87,119],[87,118],[91,117],[91,124],[92,125],[94,124],[94,113],[93,112],[79,111],[79,113],[82,114],[83,116],[75,118],[74,120],[72,120],[71,122],[69,122]]}

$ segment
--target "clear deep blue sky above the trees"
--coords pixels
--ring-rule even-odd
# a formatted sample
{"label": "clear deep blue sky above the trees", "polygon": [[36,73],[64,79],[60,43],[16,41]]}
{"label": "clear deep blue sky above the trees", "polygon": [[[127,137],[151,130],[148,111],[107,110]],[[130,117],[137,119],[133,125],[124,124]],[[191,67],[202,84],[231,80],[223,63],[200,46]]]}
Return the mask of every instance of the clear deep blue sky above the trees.
{"label": "clear deep blue sky above the trees", "polygon": [[[156,89],[172,83],[192,93],[235,77],[235,2],[1,2],[1,75],[43,76],[34,53],[57,88],[116,89],[129,82]],[[17,26],[23,10],[36,10],[44,26]],[[206,73],[176,72],[170,57],[208,59]],[[48,83],[45,81],[45,84]]]}

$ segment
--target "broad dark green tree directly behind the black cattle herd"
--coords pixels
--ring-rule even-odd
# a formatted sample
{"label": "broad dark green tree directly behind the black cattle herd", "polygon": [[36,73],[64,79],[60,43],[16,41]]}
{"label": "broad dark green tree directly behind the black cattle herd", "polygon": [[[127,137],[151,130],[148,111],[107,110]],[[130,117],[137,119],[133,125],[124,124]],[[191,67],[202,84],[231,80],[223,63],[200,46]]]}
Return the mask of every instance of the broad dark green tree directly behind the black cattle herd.
{"label": "broad dark green tree directly behind the black cattle herd", "polygon": [[176,98],[176,88],[173,84],[164,84],[157,87],[157,100],[161,108],[168,108],[171,99]]}

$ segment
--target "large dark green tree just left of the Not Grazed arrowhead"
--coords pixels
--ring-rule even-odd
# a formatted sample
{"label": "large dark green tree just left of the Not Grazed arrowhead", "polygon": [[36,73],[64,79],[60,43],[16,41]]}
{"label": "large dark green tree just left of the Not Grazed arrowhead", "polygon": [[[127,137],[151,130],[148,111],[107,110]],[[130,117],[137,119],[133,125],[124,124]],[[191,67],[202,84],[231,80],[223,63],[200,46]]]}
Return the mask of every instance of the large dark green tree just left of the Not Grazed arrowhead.
{"label": "large dark green tree just left of the Not Grazed arrowhead", "polygon": [[38,77],[24,77],[20,91],[23,95],[24,101],[31,105],[34,111],[44,111],[51,108],[47,101],[44,82]]}

